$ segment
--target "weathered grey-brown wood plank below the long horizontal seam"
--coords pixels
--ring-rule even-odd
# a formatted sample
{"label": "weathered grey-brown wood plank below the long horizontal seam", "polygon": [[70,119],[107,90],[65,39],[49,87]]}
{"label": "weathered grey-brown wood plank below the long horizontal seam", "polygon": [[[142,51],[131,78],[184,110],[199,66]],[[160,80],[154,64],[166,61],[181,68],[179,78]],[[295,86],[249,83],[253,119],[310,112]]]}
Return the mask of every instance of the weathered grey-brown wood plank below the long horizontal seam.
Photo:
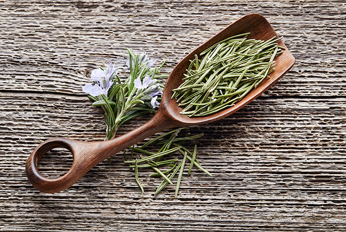
{"label": "weathered grey-brown wood plank below the long horizontal seam", "polygon": [[[221,231],[228,230],[218,228],[222,224],[234,224],[232,230],[254,224],[253,231],[256,231],[256,225],[260,230],[264,222],[281,225],[289,220],[293,225],[287,230],[295,231],[303,229],[307,219],[318,224],[333,214],[337,228],[343,227],[346,133],[339,132],[346,125],[344,98],[318,103],[309,98],[261,97],[234,116],[191,128],[192,133],[206,133],[198,140],[199,158],[214,177],[195,172],[183,179],[178,200],[172,198],[173,188],[155,198],[152,196],[155,189],[146,188],[144,197],[140,198],[138,187],[132,181],[133,172],[122,162],[122,155],[115,156],[111,164],[99,164],[67,191],[52,195],[39,193],[26,181],[23,162],[27,155],[39,142],[60,133],[75,139],[93,136],[92,139],[101,139],[103,125],[96,126],[102,113],[92,113],[94,109],[85,97],[69,96],[69,104],[54,94],[41,97],[36,93],[27,96],[5,93],[0,99],[6,102],[1,113],[2,118],[8,118],[3,121],[4,126],[12,128],[11,137],[1,139],[4,146],[0,165],[7,168],[2,170],[4,183],[0,187],[7,193],[16,192],[12,196],[0,195],[6,202],[0,214],[11,209],[10,215],[15,216],[31,207],[34,207],[33,216],[39,217],[47,210],[63,211],[45,216],[36,226],[44,220],[56,220],[55,217],[58,222],[75,218],[76,214],[82,214],[79,216],[82,221],[85,217],[96,221],[116,218],[130,226],[130,221],[139,214],[145,219],[136,220],[149,223],[145,229],[148,231],[161,228],[162,222],[155,221],[157,217],[165,222],[162,228],[172,231],[178,231],[179,227],[171,224],[171,220],[186,224],[191,231],[198,231],[201,223]],[[332,120],[327,113],[333,115]],[[135,123],[140,124],[142,120]],[[130,128],[125,125],[121,132]],[[25,146],[21,146],[23,143]],[[6,159],[14,152],[16,159],[22,161],[13,163],[13,159]],[[61,162],[55,165],[58,169],[67,168]],[[141,176],[141,179],[144,186],[152,182],[159,184],[156,178]],[[35,195],[40,197],[33,198]],[[303,211],[304,217],[297,218],[302,217]],[[273,221],[274,215],[279,217]],[[183,217],[192,222],[181,221]],[[197,218],[199,222],[195,222]],[[75,220],[72,221],[83,224]],[[279,230],[275,225],[265,227]],[[29,228],[35,228],[35,223]]]}

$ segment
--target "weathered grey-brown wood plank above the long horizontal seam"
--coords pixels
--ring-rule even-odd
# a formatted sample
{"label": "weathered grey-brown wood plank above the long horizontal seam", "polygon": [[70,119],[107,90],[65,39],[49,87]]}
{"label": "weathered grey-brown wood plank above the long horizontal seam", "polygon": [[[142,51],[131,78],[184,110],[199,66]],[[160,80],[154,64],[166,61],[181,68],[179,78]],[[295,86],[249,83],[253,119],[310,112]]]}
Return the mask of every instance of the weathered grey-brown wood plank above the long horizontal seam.
{"label": "weathered grey-brown wood plank above the long horizontal seam", "polygon": [[[345,37],[345,3],[153,1],[81,6],[38,1],[30,6],[22,2],[8,10],[6,4],[2,7],[0,81],[4,90],[83,94],[81,86],[87,81],[83,72],[109,57],[124,69],[127,46],[167,58],[164,71],[169,73],[202,41],[240,16],[259,12],[285,37],[299,61],[276,85],[275,95],[345,95],[345,51],[340,48],[346,42],[339,39]],[[253,9],[246,9],[248,5]],[[30,14],[22,17],[28,7]]]}

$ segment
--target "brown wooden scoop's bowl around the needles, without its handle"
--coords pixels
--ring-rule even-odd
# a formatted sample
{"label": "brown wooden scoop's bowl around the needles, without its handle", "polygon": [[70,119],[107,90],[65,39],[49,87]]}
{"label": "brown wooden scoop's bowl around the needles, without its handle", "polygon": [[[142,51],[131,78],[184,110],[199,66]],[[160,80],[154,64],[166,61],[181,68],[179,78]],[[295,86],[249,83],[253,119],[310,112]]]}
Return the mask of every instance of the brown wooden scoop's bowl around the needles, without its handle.
{"label": "brown wooden scoop's bowl around the needles, without its handle", "polygon": [[239,20],[235,21],[225,29],[223,29],[213,38],[209,39],[208,41],[197,47],[195,50],[193,50],[175,66],[165,84],[165,89],[161,101],[161,107],[166,109],[166,114],[169,114],[174,119],[178,120],[181,123],[184,123],[184,126],[199,125],[216,121],[220,118],[233,114],[234,112],[240,110],[245,105],[253,101],[264,91],[270,88],[270,86],[275,84],[293,67],[296,61],[295,58],[287,49],[283,41],[279,40],[277,41],[278,45],[284,47],[285,50],[283,50],[282,54],[275,57],[274,61],[276,63],[276,66],[274,72],[270,74],[270,78],[265,78],[257,88],[249,92],[241,101],[237,102],[233,107],[227,108],[210,116],[188,117],[179,114],[182,108],[178,107],[178,104],[174,99],[171,99],[173,94],[172,90],[179,87],[179,85],[183,82],[183,74],[186,73],[186,69],[190,64],[189,60],[193,60],[195,54],[199,55],[202,51],[223,39],[227,39],[228,37],[247,32],[251,33],[247,37],[247,39],[268,40],[274,36],[278,38],[278,35],[275,33],[274,29],[270,26],[268,21],[260,14],[246,15],[240,18]]}

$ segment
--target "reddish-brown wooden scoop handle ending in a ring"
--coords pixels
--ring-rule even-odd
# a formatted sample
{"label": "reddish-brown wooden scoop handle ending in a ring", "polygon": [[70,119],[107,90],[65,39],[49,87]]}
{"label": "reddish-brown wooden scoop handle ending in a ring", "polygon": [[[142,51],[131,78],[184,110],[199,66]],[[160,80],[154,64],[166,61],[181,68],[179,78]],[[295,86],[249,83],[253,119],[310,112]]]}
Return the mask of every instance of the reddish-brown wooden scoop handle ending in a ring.
{"label": "reddish-brown wooden scoop handle ending in a ring", "polygon": [[[161,114],[159,110],[147,123],[112,140],[81,142],[64,138],[48,139],[40,144],[29,156],[26,162],[26,174],[36,189],[44,193],[57,193],[72,186],[102,160],[129,148],[157,132],[175,126],[179,125],[170,117]],[[68,149],[73,155],[73,163],[64,176],[50,179],[40,174],[38,163],[44,154],[54,148]]]}

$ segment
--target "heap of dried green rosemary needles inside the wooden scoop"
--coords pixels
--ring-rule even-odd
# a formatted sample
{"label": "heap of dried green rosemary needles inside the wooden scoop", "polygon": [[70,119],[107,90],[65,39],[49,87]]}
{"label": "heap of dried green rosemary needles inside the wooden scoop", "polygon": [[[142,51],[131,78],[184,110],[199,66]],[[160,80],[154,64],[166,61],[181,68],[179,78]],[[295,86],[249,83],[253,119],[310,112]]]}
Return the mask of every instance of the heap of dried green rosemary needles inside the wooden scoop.
{"label": "heap of dried green rosemary needles inside the wooden scoop", "polygon": [[232,107],[274,71],[282,49],[275,37],[247,39],[250,33],[224,39],[190,60],[184,82],[173,96],[184,108],[180,114],[207,116]]}

